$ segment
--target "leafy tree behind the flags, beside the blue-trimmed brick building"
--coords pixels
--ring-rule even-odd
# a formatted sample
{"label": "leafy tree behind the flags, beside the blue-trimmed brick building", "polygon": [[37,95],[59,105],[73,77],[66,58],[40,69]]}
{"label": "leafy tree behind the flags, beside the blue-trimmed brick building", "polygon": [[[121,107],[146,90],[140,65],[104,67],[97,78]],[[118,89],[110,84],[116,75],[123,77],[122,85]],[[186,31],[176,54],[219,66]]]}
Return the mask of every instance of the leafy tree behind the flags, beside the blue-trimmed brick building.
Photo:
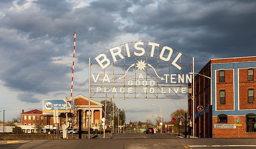
{"label": "leafy tree behind the flags, beside the blue-trimmed brick building", "polygon": [[[172,119],[173,117],[175,117],[177,119],[177,122],[175,121],[174,122],[174,126],[173,126],[173,130],[174,132],[178,132],[178,128],[179,128],[179,122],[178,122],[178,117],[180,116],[183,116],[185,117],[185,113],[188,114],[188,111],[185,110],[185,109],[177,109],[175,112],[172,112],[171,115],[170,115],[170,119]],[[185,122],[186,121],[181,121],[181,125],[180,125],[180,132],[185,132]]]}

